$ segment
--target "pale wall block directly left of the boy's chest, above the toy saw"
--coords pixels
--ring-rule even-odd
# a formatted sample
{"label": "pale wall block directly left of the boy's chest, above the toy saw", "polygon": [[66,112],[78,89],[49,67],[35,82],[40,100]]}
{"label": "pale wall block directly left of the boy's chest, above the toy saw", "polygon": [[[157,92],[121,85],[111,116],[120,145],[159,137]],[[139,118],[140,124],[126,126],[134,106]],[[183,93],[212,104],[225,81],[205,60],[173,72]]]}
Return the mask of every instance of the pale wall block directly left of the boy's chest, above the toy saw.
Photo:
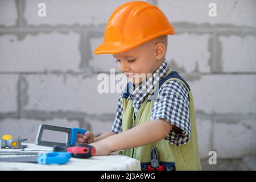
{"label": "pale wall block directly left of the boy's chest, above the toy saw", "polygon": [[[100,94],[96,75],[27,76],[30,96],[26,110],[76,111],[89,114],[115,112],[118,94]],[[38,92],[40,90],[40,92]],[[53,101],[54,100],[54,104]]]}

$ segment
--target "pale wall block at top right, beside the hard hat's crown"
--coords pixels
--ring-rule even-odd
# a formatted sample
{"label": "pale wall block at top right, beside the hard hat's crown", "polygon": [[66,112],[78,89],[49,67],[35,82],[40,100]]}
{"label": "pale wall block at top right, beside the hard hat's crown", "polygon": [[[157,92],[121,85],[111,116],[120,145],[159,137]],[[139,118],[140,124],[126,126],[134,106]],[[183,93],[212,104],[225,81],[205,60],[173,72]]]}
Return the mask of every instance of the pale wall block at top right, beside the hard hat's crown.
{"label": "pale wall block at top right, beside the hard hat's crown", "polygon": [[[255,27],[255,1],[221,1],[196,0],[193,3],[181,1],[157,1],[158,6],[171,22],[188,22],[195,24],[230,24],[234,26]],[[216,3],[217,18],[208,16],[209,3]]]}

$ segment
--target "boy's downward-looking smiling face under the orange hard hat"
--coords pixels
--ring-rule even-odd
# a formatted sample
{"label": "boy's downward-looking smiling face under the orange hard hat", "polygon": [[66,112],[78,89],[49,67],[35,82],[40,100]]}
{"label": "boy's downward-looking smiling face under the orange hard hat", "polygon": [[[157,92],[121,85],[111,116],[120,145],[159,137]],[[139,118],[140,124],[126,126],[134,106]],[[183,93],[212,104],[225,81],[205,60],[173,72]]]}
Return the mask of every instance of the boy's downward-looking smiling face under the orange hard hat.
{"label": "boy's downward-looking smiling face under the orange hard hat", "polygon": [[119,70],[125,73],[134,84],[146,80],[146,77],[150,76],[147,73],[154,73],[159,67],[154,47],[150,45],[138,46],[113,56],[118,61]]}

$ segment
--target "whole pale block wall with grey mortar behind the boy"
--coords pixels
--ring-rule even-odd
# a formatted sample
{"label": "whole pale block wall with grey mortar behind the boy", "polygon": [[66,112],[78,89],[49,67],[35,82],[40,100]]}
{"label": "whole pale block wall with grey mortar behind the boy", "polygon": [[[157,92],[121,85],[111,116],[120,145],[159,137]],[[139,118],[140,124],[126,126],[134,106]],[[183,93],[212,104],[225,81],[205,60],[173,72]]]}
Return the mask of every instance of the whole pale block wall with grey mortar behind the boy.
{"label": "whole pale block wall with grey mortar behind the boy", "polygon": [[[38,3],[46,3],[40,18]],[[100,94],[100,73],[118,71],[94,55],[114,9],[127,1],[0,1],[0,135],[34,141],[42,123],[111,129],[119,94]],[[256,154],[256,1],[148,1],[175,28],[166,59],[191,86],[200,155]]]}

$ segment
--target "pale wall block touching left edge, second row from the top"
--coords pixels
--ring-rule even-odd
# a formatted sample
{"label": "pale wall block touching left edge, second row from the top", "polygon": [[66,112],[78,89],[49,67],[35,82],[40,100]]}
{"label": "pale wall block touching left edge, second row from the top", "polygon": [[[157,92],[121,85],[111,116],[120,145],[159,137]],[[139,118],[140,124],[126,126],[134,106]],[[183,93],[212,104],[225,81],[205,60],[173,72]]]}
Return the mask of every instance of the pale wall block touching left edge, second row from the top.
{"label": "pale wall block touching left edge, second row from the top", "polygon": [[74,32],[27,35],[22,41],[15,35],[3,35],[0,71],[77,72],[81,62],[79,40],[80,35]]}

